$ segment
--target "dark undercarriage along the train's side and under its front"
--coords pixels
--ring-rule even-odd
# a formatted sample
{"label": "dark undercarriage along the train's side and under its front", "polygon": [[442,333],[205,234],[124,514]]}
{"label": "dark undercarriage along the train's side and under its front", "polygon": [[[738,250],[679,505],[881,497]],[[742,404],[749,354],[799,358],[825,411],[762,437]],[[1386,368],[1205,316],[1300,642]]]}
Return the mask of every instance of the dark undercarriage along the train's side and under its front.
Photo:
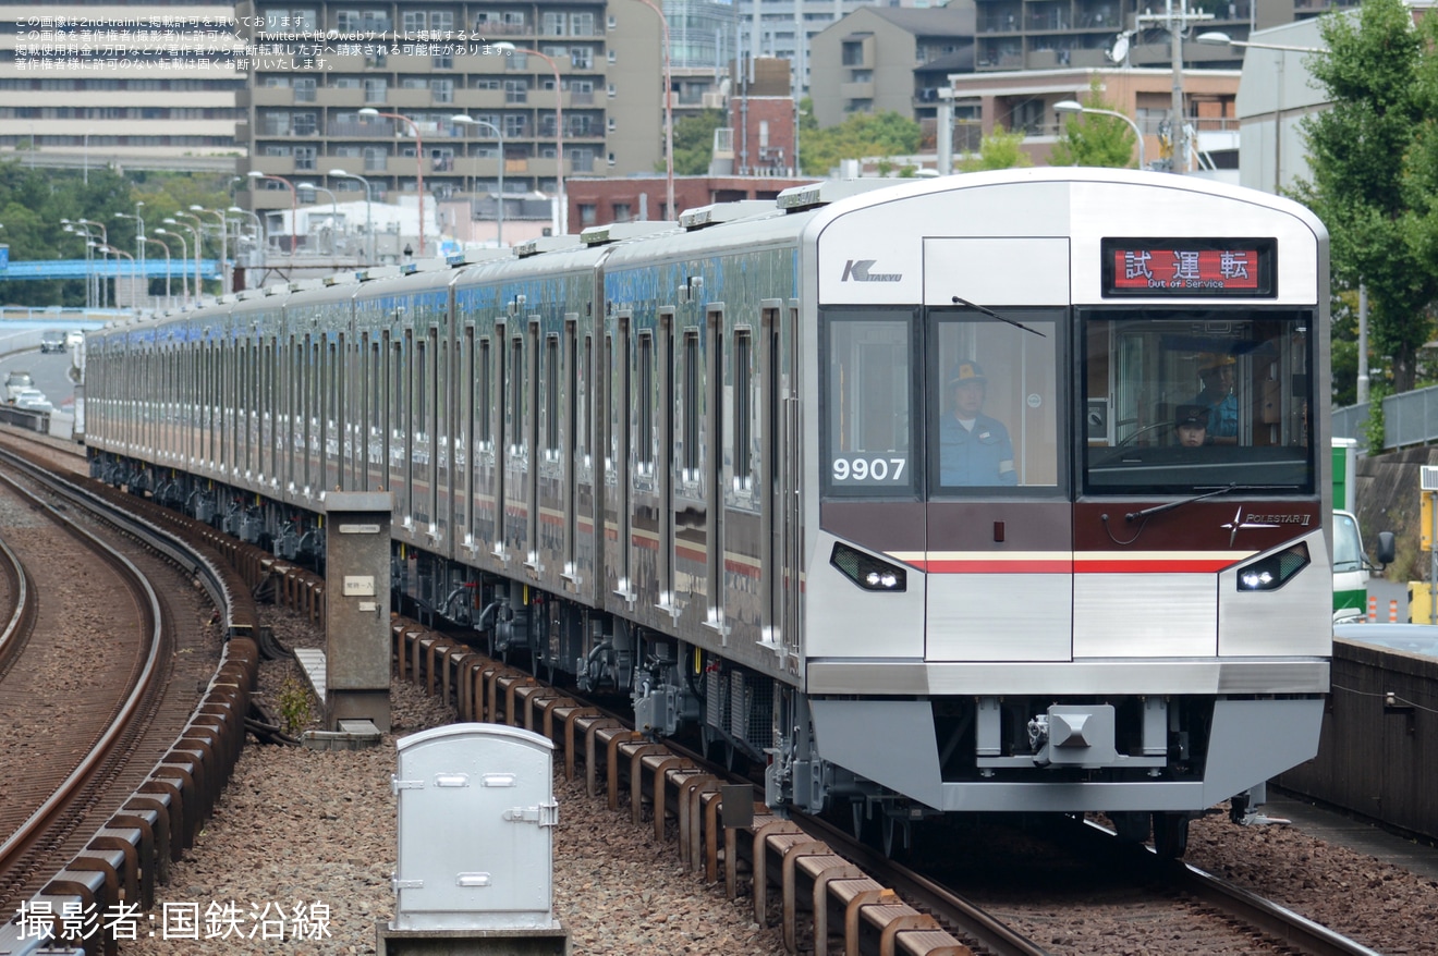
{"label": "dark undercarriage along the train's side and under its front", "polygon": [[[324,572],[324,529],[312,512],[109,454],[92,459],[92,474]],[[646,733],[689,735],[729,768],[764,768],[771,806],[847,818],[856,834],[886,852],[907,847],[920,821],[955,809],[1005,812],[1007,805],[1009,815],[1106,812],[1120,837],[1142,841],[1152,834],[1162,852],[1179,855],[1198,811],[1166,808],[1165,801],[1173,802],[1173,788],[1202,786],[1215,707],[1227,703],[1201,696],[810,699],[676,637],[403,543],[391,555],[391,595],[421,624],[469,633],[498,660],[528,664],[584,694],[627,697]],[[835,710],[846,712],[838,723]],[[928,727],[912,723],[916,713]],[[909,766],[922,765],[916,750],[932,746],[938,781],[949,795],[915,799],[827,759],[835,748],[821,750],[815,727],[824,726],[848,727],[835,736],[857,737],[856,750],[905,753]],[[886,733],[907,745],[886,743]],[[1054,788],[1066,782],[1100,804],[1066,804],[1064,788]],[[1104,788],[1094,783],[1110,788],[1113,805],[1102,805]],[[1145,805],[1163,783],[1171,785],[1168,795]],[[916,782],[910,792],[923,786]],[[1232,796],[1237,822],[1263,802],[1261,789]],[[1045,796],[1030,804],[1018,796],[1025,791]],[[945,805],[955,799],[958,805]],[[1045,806],[1048,799],[1055,802]],[[1178,799],[1192,804],[1188,794]]]}

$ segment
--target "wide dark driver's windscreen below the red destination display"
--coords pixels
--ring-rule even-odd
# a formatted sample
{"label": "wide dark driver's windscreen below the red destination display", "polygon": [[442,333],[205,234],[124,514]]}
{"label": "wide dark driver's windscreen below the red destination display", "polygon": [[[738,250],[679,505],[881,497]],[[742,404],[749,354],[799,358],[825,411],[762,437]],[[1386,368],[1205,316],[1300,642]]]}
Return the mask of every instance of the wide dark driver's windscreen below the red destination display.
{"label": "wide dark driver's windscreen below the red destination display", "polygon": [[1084,490],[1311,493],[1314,318],[1252,308],[1083,315]]}

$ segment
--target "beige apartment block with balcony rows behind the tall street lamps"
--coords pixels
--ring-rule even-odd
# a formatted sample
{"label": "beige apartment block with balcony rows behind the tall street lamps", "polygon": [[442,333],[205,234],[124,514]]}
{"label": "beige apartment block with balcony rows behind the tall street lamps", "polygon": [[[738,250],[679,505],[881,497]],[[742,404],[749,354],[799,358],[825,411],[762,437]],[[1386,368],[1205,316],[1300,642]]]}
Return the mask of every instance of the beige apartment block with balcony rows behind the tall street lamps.
{"label": "beige apartment block with balcony rows behind the tall street lamps", "polygon": [[368,184],[391,203],[423,190],[437,234],[441,201],[502,196],[519,214],[521,197],[554,196],[559,175],[663,160],[663,23],[641,0],[246,0],[239,12],[256,50],[240,95],[256,211],[288,210],[301,178],[335,193]]}

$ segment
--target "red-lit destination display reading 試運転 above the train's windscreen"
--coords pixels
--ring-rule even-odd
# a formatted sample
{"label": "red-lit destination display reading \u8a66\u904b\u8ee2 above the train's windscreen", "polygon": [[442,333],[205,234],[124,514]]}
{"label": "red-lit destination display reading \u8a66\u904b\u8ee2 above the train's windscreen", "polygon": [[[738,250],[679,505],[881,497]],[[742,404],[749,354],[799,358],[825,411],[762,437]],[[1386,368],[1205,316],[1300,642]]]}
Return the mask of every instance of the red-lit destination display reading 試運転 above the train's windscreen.
{"label": "red-lit destination display reading \u8a66\u904b\u8ee2 above the train's windscreen", "polygon": [[1273,239],[1104,239],[1106,296],[1273,298]]}

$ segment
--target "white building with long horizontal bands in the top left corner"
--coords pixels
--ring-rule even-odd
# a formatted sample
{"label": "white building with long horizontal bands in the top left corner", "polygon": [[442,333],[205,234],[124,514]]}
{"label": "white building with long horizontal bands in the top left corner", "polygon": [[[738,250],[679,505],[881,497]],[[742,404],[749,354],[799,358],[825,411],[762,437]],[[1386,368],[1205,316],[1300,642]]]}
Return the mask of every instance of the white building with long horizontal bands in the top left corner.
{"label": "white building with long horizontal bands in the top left corner", "polygon": [[221,168],[244,65],[234,6],[0,3],[0,157]]}

